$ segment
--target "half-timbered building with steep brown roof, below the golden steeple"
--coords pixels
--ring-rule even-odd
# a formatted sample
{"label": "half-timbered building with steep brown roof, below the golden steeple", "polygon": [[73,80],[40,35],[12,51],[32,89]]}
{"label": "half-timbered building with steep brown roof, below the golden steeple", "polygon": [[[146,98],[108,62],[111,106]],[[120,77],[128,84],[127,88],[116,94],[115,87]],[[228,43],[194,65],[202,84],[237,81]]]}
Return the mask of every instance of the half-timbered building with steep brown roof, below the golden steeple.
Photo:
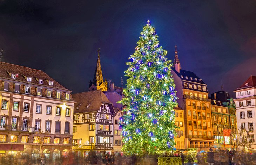
{"label": "half-timbered building with steep brown roof, below the golden steeple", "polygon": [[77,101],[73,121],[73,144],[76,155],[86,156],[91,149],[97,152],[110,152],[113,149],[113,104],[101,90],[72,96]]}

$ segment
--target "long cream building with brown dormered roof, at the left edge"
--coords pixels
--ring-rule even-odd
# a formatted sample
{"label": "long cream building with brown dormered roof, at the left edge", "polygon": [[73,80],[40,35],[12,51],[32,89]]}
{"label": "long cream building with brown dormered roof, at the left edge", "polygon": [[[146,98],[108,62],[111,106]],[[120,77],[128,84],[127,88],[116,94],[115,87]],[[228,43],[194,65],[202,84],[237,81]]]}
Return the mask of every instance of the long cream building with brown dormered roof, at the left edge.
{"label": "long cream building with brown dormered roof, at the left edge", "polygon": [[[8,155],[44,154],[49,160],[72,152],[71,91],[46,73],[0,62],[0,150]],[[16,149],[15,149],[16,148]]]}

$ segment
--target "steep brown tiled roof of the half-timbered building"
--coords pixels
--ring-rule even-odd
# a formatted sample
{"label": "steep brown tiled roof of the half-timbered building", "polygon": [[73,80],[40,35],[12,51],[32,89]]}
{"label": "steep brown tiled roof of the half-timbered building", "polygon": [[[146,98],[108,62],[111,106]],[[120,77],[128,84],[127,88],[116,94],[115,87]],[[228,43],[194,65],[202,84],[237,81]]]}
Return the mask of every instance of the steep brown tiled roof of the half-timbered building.
{"label": "steep brown tiled roof of the half-timbered building", "polygon": [[[83,112],[97,112],[102,103],[112,104],[101,90],[72,94],[77,103],[74,105],[74,114]],[[88,106],[88,107],[87,107]],[[79,107],[79,109],[77,109]]]}

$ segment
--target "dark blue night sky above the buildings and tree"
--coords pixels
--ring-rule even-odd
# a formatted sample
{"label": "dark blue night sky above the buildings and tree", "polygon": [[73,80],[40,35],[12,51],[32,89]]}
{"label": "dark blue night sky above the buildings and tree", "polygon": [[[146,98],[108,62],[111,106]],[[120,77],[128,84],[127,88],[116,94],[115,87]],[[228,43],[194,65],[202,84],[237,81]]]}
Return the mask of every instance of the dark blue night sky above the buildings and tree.
{"label": "dark blue night sky above the buildings and tree", "polygon": [[[147,20],[160,45],[210,93],[231,93],[256,76],[256,1],[0,0],[4,62],[46,72],[73,93],[88,90],[97,62],[103,78],[121,86]],[[233,94],[232,94],[233,93]]]}

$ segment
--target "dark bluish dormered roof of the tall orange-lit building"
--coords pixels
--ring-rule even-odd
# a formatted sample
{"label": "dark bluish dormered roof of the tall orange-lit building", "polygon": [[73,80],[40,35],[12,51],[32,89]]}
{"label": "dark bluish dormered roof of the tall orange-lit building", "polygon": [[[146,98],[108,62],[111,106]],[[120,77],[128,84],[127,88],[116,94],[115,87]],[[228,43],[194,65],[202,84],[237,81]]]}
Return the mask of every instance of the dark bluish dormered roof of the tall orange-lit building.
{"label": "dark bluish dormered roof of the tall orange-lit building", "polygon": [[[183,69],[180,69],[180,73],[178,73],[175,69],[173,69],[173,71],[180,77],[181,80],[196,82],[196,83],[206,85],[206,83],[204,83],[202,81],[202,79],[200,79],[198,76],[196,76],[196,74],[194,72],[186,71],[186,70],[183,70]],[[190,78],[192,78],[192,80]]]}

